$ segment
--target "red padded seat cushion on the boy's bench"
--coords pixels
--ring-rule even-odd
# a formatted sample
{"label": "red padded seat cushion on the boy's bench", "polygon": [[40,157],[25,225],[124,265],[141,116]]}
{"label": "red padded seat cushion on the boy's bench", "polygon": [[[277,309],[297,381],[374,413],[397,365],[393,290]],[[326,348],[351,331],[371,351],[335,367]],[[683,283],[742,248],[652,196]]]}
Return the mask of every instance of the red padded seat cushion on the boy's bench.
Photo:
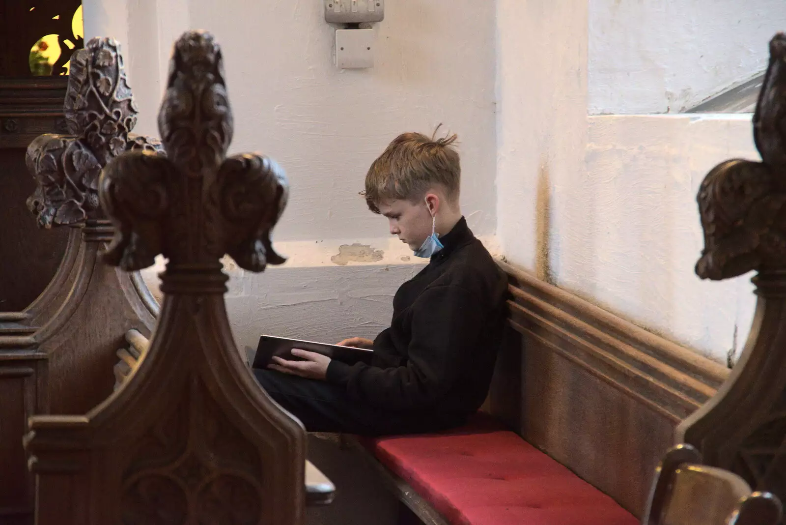
{"label": "red padded seat cushion on the boy's bench", "polygon": [[637,525],[611,497],[486,418],[454,431],[363,439],[454,525]]}

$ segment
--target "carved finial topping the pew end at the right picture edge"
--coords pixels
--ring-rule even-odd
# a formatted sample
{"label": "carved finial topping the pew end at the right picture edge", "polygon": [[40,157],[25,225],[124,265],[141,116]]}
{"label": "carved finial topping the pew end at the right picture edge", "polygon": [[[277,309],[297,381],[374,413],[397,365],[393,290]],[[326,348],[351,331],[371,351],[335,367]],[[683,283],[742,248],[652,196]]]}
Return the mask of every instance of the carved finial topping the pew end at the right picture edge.
{"label": "carved finial topping the pew end at the right picture edge", "polygon": [[698,195],[703,279],[786,269],[786,35],[769,43],[753,129],[762,162],[732,159],[714,167]]}

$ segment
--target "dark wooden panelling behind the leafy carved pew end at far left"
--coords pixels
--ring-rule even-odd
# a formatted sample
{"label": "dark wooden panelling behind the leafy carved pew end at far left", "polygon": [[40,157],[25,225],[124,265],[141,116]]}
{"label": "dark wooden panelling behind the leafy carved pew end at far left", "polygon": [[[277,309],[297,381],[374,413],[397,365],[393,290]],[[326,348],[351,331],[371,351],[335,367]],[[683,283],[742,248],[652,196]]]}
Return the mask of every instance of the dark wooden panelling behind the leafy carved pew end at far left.
{"label": "dark wooden panelling behind the leafy carved pew end at far left", "polygon": [[[72,24],[82,2],[39,0],[35,9],[27,3],[3,0],[0,7],[0,312],[25,310],[41,294],[61,266],[69,236],[66,229],[36,233],[24,204],[35,189],[24,151],[42,133],[68,133],[63,114],[68,76],[61,74],[83,47]],[[58,36],[60,56],[51,75],[34,76],[31,46],[43,35]]]}

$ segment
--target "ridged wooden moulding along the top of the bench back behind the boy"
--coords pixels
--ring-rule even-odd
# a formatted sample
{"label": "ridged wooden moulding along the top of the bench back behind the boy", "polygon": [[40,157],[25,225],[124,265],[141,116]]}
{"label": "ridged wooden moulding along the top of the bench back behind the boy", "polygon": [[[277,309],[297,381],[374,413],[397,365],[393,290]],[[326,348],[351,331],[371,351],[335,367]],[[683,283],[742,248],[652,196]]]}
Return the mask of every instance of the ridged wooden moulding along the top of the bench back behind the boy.
{"label": "ridged wooden moulding along the top of the bench back behind the boy", "polygon": [[678,423],[730,370],[630,321],[498,262],[510,278],[509,325]]}

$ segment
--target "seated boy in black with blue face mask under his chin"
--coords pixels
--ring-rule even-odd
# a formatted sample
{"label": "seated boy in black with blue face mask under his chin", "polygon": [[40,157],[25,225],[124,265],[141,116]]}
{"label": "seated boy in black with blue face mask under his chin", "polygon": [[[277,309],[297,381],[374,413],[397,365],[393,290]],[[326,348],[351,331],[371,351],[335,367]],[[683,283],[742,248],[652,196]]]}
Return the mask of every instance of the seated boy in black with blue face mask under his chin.
{"label": "seated boy in black with blue face mask under his chin", "polygon": [[461,425],[486,398],[505,319],[507,278],[459,207],[461,167],[449,138],[399,135],[369,168],[365,200],[392,235],[431,259],[393,299],[371,365],[293,350],[254,373],[307,431],[391,435]]}

